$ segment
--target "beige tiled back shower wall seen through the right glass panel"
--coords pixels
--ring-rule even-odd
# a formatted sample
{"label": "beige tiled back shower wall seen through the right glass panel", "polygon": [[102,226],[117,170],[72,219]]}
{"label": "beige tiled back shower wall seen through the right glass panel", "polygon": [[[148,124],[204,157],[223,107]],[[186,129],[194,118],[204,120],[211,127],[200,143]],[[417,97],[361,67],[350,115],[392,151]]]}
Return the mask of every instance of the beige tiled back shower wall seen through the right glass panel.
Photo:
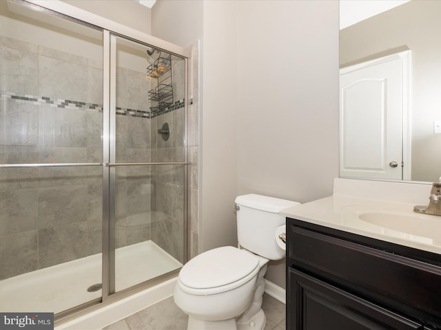
{"label": "beige tiled back shower wall seen through the right glass panel", "polygon": [[[150,162],[145,72],[116,72],[116,162]],[[116,248],[150,239],[150,166],[116,167]]]}

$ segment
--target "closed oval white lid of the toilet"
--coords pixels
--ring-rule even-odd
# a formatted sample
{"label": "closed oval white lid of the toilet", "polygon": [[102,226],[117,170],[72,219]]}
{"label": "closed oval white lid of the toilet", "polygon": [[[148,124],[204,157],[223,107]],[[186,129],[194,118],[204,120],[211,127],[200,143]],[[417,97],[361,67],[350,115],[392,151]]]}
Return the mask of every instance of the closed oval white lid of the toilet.
{"label": "closed oval white lid of the toilet", "polygon": [[194,289],[209,289],[239,281],[259,267],[251,252],[223,246],[203,252],[182,267],[179,281]]}

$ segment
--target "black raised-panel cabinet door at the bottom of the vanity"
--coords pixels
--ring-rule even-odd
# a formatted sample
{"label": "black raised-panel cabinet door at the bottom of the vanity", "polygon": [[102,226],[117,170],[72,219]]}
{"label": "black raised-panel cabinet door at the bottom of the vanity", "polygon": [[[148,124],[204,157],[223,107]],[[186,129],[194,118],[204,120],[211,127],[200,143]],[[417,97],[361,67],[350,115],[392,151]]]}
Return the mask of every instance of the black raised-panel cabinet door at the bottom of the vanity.
{"label": "black raised-panel cabinet door at the bottom of the vanity", "polygon": [[289,330],[422,329],[416,322],[291,267],[287,290]]}

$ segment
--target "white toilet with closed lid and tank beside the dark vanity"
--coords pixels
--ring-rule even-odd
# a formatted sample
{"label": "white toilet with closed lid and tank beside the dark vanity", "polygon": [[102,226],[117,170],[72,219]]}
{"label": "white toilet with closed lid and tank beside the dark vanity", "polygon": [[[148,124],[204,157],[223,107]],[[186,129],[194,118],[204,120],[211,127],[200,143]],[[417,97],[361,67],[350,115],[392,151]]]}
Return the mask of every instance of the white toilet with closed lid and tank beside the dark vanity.
{"label": "white toilet with closed lid and tank beside the dark vanity", "polygon": [[236,197],[240,248],[203,252],[179,272],[174,301],[188,314],[187,330],[262,330],[263,276],[270,260],[285,257],[276,229],[285,225],[280,210],[297,204],[260,195]]}

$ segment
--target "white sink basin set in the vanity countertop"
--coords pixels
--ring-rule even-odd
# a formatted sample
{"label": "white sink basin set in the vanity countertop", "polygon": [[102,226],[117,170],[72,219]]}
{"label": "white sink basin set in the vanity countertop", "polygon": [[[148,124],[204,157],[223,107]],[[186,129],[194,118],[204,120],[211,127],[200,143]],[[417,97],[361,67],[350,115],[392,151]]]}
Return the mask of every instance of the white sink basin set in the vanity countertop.
{"label": "white sink basin set in the vanity countertop", "polygon": [[342,222],[358,223],[360,229],[407,241],[433,244],[441,241],[441,217],[413,212],[407,204],[345,206]]}

